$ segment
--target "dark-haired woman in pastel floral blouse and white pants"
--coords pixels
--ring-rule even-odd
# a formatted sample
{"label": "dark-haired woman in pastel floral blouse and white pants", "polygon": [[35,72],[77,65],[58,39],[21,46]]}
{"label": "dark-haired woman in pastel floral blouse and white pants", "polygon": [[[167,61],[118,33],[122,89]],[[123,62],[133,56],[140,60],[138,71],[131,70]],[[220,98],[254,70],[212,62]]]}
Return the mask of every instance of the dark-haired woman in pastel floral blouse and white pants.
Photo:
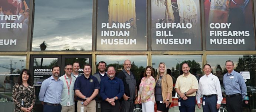
{"label": "dark-haired woman in pastel floral blouse and white pants", "polygon": [[153,78],[153,74],[153,68],[151,66],[147,66],[146,72],[144,72],[144,78],[141,79],[140,89],[138,92],[138,103],[142,103],[143,112],[154,112],[155,79]]}

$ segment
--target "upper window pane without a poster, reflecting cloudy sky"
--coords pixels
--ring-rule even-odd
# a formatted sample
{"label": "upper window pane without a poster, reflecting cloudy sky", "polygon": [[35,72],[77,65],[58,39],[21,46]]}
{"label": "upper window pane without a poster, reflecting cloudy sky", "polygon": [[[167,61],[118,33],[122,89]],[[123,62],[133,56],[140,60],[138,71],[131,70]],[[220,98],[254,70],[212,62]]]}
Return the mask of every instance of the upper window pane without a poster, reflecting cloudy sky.
{"label": "upper window pane without a poster, reflecting cloudy sky", "polygon": [[92,50],[93,0],[36,0],[32,50]]}

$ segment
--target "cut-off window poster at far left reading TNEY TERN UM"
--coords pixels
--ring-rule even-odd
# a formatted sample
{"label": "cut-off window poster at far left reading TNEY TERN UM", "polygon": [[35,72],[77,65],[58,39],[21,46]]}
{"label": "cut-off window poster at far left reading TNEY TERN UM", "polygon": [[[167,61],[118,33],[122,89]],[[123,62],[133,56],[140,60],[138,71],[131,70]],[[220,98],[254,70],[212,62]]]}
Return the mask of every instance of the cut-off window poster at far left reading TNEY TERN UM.
{"label": "cut-off window poster at far left reading TNEY TERN UM", "polygon": [[0,51],[25,51],[29,0],[0,0]]}

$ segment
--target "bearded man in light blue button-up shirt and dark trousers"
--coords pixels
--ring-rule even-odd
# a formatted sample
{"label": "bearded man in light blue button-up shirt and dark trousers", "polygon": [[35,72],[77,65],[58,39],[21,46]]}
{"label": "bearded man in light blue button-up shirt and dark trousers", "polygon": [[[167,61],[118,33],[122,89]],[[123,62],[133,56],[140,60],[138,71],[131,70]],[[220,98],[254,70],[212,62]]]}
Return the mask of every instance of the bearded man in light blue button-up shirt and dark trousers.
{"label": "bearded man in light blue button-up shirt and dark trousers", "polygon": [[43,81],[39,101],[43,104],[43,112],[60,112],[61,111],[61,93],[63,82],[59,79],[60,67],[52,67],[52,76]]}

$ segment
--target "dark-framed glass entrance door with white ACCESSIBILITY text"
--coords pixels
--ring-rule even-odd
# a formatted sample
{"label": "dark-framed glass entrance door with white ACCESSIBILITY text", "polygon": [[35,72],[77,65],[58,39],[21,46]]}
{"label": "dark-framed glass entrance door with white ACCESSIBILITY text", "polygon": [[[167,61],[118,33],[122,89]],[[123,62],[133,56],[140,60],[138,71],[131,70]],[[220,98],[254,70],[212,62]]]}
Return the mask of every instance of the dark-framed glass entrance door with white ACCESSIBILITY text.
{"label": "dark-framed glass entrance door with white ACCESSIBILITY text", "polygon": [[79,62],[79,73],[83,74],[83,65],[92,64],[91,55],[32,55],[30,58],[30,72],[33,76],[33,85],[36,89],[37,102],[35,112],[43,112],[43,105],[38,99],[42,82],[52,76],[52,66],[60,66],[60,76],[65,74],[65,65]]}

